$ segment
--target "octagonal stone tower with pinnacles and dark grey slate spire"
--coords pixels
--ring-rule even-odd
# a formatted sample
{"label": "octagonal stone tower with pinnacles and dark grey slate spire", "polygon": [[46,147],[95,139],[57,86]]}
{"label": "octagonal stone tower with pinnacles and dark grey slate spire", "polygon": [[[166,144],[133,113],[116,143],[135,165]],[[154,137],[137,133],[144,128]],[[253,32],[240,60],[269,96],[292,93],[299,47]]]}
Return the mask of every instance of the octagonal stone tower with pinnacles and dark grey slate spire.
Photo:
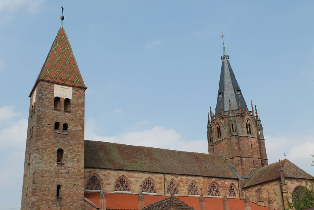
{"label": "octagonal stone tower with pinnacles and dark grey slate spire", "polygon": [[215,113],[208,113],[209,154],[221,154],[240,175],[268,165],[263,127],[257,111],[248,110],[231,69],[229,56],[221,56],[222,66]]}

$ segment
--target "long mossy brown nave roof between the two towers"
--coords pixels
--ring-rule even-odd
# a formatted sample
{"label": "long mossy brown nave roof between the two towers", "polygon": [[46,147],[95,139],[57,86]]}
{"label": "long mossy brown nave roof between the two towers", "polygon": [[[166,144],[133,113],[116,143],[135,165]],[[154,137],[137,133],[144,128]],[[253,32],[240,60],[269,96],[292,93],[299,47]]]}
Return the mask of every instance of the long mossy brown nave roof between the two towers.
{"label": "long mossy brown nave roof between the two towers", "polygon": [[85,167],[237,179],[217,155],[90,140]]}

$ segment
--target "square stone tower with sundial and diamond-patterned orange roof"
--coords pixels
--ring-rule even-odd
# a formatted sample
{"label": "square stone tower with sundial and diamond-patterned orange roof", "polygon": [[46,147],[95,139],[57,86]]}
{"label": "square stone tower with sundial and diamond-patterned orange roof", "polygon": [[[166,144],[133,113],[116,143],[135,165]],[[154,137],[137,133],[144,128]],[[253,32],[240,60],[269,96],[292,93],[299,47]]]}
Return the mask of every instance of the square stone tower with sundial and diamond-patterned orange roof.
{"label": "square stone tower with sundial and diamond-patterned orange roof", "polygon": [[61,26],[29,96],[21,209],[84,208],[86,88]]}

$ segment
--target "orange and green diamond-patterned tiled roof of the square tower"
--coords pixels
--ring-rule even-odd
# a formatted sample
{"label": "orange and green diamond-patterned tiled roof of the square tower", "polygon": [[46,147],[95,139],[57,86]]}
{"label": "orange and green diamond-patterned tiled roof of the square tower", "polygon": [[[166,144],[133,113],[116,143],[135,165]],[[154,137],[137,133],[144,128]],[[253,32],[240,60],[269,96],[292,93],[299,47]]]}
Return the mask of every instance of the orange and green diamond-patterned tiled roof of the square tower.
{"label": "orange and green diamond-patterned tiled roof of the square tower", "polygon": [[36,80],[86,88],[63,28],[60,28]]}

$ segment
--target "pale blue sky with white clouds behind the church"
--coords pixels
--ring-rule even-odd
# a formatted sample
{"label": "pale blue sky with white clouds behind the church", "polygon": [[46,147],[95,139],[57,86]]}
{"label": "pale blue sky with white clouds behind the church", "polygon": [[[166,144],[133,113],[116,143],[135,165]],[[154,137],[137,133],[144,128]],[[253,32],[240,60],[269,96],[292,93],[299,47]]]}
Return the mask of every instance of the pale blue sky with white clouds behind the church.
{"label": "pale blue sky with white clouds behind the church", "polygon": [[86,139],[206,153],[223,32],[269,163],[285,152],[314,175],[314,2],[0,0],[0,209],[20,208],[28,95],[61,6],[88,86]]}

